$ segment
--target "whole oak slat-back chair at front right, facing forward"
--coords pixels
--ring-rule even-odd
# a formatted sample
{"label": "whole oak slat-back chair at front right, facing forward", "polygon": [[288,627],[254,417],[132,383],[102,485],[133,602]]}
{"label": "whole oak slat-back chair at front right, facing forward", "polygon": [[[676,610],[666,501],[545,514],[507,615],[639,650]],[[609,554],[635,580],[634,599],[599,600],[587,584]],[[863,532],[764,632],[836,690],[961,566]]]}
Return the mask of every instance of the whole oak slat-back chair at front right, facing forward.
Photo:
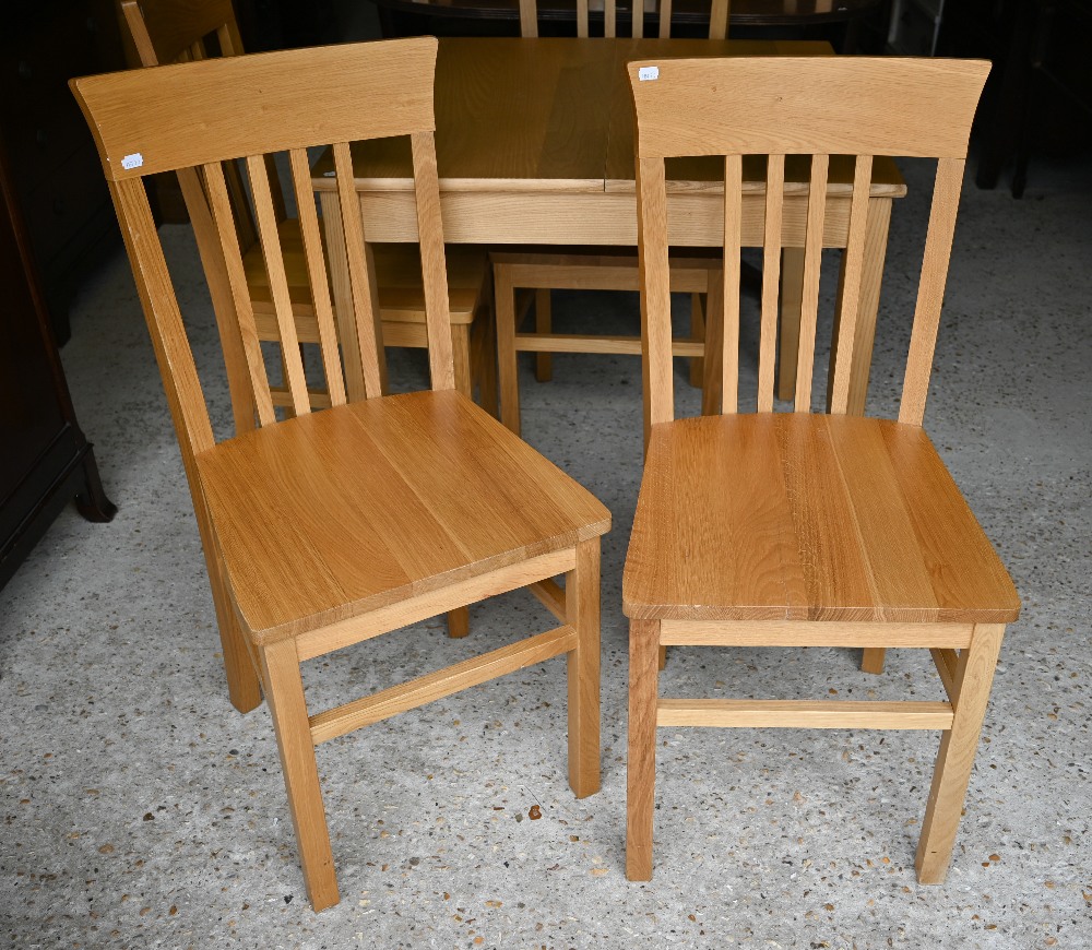
{"label": "whole oak slat-back chair at front right, facing forward", "polygon": [[[642,67],[658,79],[641,81]],[[943,880],[1005,625],[1005,568],[922,429],[966,143],[989,66],[905,59],[702,59],[629,64],[637,104],[649,450],[622,584],[630,618],[627,876],[652,875],[657,726],[942,731],[917,875]],[[698,119],[697,117],[700,117]],[[785,154],[810,155],[795,412],[774,414]],[[744,154],[768,155],[761,234],[741,234]],[[811,414],[828,159],[857,156],[833,412]],[[723,414],[674,419],[664,159],[723,155]],[[938,158],[898,420],[846,415],[874,155]],[[763,245],[757,413],[737,413],[739,247]],[[714,340],[721,341],[714,345]],[[845,358],[843,358],[843,356]],[[666,699],[662,644],[928,648],[946,702]],[[666,812],[665,812],[666,814]]]}

